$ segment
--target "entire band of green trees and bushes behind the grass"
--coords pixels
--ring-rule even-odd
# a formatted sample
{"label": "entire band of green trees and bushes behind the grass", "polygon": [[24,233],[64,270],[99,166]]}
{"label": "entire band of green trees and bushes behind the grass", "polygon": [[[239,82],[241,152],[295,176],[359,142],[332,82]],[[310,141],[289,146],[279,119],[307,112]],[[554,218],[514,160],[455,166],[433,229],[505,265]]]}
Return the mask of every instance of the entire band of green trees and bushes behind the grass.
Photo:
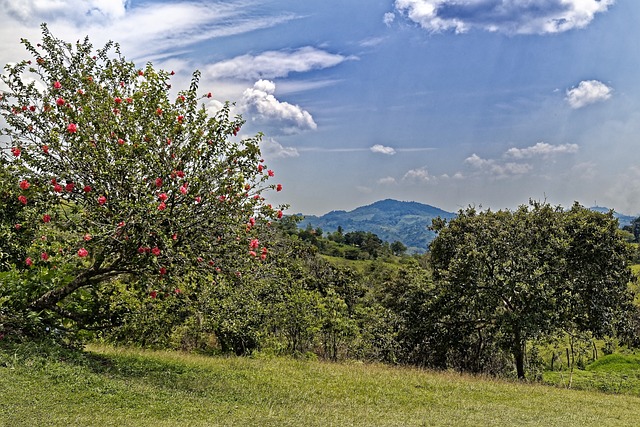
{"label": "entire band of green trees and bushes behind the grass", "polygon": [[541,338],[639,341],[611,213],[469,208],[424,229],[438,236],[420,256],[371,231],[299,229],[265,200],[282,187],[260,135],[241,139],[228,104],[207,109],[197,72],[173,92],[171,72],[113,43],[71,45],[44,26],[23,44],[32,59],[6,67],[0,92],[0,340],[521,378]]}

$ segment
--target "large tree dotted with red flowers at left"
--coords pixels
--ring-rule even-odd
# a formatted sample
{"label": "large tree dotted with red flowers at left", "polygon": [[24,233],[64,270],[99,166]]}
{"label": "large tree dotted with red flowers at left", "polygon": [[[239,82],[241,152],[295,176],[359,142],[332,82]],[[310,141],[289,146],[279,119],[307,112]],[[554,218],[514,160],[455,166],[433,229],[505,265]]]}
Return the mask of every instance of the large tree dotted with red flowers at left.
{"label": "large tree dotted with red flowers at left", "polygon": [[173,72],[42,28],[42,43],[22,40],[33,59],[7,65],[0,92],[0,189],[19,208],[4,226],[37,236],[13,260],[21,306],[78,320],[72,297],[115,279],[154,297],[187,274],[240,274],[265,259],[259,230],[283,207],[262,195],[282,187],[267,183],[261,135],[241,140],[229,104],[209,114],[198,72],[173,98]]}

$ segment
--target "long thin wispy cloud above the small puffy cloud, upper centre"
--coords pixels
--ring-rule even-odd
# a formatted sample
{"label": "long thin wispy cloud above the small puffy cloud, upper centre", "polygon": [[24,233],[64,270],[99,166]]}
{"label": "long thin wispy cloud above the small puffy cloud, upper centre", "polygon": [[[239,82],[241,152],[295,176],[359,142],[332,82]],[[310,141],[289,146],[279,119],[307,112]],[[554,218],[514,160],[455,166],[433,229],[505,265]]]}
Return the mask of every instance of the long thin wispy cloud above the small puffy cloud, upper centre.
{"label": "long thin wispy cloud above the small puffy cloud, upper centre", "polygon": [[207,73],[214,78],[275,79],[287,77],[293,72],[303,73],[334,67],[350,59],[355,57],[305,46],[293,51],[267,51],[255,56],[248,54],[236,56],[209,66]]}

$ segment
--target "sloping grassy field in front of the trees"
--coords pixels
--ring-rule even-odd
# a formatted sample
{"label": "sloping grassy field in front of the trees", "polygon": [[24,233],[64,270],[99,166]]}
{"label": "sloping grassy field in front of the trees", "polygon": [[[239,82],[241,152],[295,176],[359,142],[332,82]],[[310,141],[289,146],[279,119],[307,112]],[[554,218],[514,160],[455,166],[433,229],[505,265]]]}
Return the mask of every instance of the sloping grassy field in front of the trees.
{"label": "sloping grassy field in front of the trees", "polygon": [[0,358],[1,426],[636,426],[640,398],[408,368],[92,346]]}

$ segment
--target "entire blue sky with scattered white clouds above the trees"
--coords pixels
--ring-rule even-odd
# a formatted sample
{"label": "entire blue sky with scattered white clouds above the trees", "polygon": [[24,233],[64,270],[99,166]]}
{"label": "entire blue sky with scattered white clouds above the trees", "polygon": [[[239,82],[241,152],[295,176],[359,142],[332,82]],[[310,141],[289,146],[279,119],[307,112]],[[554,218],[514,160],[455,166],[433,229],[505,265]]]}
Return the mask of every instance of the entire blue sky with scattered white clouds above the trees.
{"label": "entire blue sky with scattered white clouds above the trees", "polygon": [[640,213],[640,2],[0,0],[0,64],[39,24],[203,73],[290,212],[529,198]]}

